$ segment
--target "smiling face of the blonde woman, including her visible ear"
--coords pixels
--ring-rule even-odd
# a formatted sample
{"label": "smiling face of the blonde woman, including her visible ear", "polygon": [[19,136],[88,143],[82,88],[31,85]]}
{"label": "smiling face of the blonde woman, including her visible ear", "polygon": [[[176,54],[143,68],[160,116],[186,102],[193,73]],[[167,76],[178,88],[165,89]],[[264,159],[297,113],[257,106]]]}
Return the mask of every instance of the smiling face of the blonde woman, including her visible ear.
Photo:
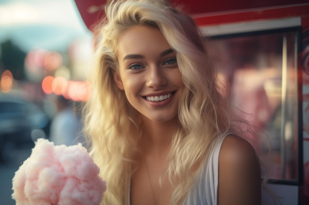
{"label": "smiling face of the blonde woman, including her visible ear", "polygon": [[173,52],[159,29],[134,26],[118,39],[116,85],[129,103],[153,121],[167,121],[178,112],[184,89]]}

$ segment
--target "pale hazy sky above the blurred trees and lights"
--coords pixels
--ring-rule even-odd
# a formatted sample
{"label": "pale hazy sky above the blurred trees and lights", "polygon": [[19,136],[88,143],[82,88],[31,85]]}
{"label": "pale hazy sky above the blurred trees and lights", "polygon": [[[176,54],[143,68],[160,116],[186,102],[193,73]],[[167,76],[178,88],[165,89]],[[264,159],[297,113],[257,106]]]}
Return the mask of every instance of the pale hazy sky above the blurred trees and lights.
{"label": "pale hazy sky above the blurred trees and lights", "polygon": [[0,43],[65,51],[74,39],[91,37],[74,0],[0,0]]}

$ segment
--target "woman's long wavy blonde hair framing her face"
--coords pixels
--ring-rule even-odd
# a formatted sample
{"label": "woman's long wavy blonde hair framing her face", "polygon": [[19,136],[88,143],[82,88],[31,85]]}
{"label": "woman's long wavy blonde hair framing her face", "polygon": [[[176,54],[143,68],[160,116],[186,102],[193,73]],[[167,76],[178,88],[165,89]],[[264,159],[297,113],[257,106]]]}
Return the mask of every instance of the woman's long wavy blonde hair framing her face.
{"label": "woman's long wavy blonde hair framing her face", "polygon": [[[132,175],[132,156],[141,136],[141,120],[118,89],[117,39],[127,28],[142,25],[159,29],[177,53],[185,89],[179,102],[179,127],[169,153],[167,176],[173,186],[170,204],[183,203],[198,167],[213,142],[230,129],[229,101],[219,92],[217,76],[193,19],[167,0],[117,0],[106,7],[98,27],[97,49],[88,81],[92,98],[84,107],[85,133],[91,155],[107,181],[102,204],[124,205]],[[194,170],[194,171],[193,171]],[[182,180],[180,180],[182,179]]]}

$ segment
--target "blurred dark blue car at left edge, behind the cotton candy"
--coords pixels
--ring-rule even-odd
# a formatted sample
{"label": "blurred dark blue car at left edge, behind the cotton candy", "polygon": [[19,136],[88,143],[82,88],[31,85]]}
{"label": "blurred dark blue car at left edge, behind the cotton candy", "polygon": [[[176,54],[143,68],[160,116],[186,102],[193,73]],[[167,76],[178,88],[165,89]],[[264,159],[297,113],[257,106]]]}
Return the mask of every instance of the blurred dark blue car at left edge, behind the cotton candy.
{"label": "blurred dark blue car at left edge, behind the cotton candy", "polygon": [[[48,126],[47,115],[33,102],[17,94],[0,93],[0,162],[8,159],[13,148],[32,146],[34,133],[43,133]],[[43,137],[43,135],[42,135]]]}

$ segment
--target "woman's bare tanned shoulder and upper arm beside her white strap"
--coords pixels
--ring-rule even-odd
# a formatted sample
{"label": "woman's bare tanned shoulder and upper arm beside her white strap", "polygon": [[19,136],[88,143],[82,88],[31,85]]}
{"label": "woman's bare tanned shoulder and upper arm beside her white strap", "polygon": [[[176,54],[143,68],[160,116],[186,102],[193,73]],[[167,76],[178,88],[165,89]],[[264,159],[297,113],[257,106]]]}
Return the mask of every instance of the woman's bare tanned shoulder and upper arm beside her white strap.
{"label": "woman's bare tanned shoulder and upper arm beside her white strap", "polygon": [[229,135],[219,154],[218,205],[248,204],[261,204],[259,159],[248,141]]}

